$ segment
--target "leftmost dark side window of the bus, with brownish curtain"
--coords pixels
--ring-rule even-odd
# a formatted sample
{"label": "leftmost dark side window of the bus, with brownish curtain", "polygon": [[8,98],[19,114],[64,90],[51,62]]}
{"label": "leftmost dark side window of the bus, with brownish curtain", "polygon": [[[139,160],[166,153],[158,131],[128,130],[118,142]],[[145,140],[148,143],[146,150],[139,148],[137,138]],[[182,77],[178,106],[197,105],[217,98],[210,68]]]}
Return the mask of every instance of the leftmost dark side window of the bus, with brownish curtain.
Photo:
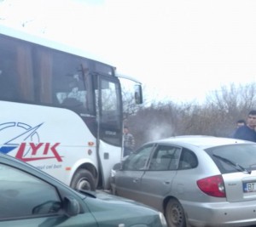
{"label": "leftmost dark side window of the bus, with brownish curtain", "polygon": [[12,39],[0,41],[0,99],[33,101],[31,48]]}

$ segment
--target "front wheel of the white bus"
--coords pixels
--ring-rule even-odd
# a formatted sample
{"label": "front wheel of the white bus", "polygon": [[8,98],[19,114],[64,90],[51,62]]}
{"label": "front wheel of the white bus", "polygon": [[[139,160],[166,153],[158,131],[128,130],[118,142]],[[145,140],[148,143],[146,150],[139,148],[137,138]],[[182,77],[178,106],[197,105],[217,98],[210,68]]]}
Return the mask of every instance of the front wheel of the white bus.
{"label": "front wheel of the white bus", "polygon": [[75,190],[96,190],[93,175],[84,168],[74,173],[70,186]]}

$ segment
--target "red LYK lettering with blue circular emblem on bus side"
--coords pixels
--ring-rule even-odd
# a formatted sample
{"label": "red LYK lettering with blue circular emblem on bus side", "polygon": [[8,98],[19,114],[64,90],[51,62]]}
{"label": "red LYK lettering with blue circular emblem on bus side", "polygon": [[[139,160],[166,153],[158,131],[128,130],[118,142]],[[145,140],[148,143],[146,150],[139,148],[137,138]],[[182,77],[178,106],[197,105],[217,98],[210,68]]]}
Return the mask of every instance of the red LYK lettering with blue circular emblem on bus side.
{"label": "red LYK lettering with blue circular emblem on bus side", "polygon": [[[16,158],[24,162],[53,159],[62,162],[58,152],[60,143],[41,143],[38,128],[21,122],[7,122],[0,124],[0,152],[8,154],[17,149]],[[4,138],[4,141],[1,141]]]}

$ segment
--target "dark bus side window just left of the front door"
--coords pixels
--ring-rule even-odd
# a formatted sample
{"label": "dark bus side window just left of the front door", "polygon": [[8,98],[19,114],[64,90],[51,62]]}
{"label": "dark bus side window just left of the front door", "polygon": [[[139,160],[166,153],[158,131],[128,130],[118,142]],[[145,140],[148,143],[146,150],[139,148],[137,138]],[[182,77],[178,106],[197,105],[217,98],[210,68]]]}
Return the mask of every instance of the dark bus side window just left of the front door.
{"label": "dark bus side window just left of the front door", "polygon": [[71,54],[53,54],[53,95],[57,104],[73,111],[88,112],[84,71],[88,65]]}

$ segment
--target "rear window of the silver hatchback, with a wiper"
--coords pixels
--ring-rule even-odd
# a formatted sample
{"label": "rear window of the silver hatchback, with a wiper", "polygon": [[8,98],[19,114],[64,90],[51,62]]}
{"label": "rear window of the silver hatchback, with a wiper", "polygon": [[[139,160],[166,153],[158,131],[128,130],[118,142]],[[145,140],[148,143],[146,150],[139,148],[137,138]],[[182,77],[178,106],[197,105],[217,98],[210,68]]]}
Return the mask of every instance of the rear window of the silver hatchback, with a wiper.
{"label": "rear window of the silver hatchback, with a wiper", "polygon": [[206,149],[221,173],[256,170],[256,144],[223,145]]}

